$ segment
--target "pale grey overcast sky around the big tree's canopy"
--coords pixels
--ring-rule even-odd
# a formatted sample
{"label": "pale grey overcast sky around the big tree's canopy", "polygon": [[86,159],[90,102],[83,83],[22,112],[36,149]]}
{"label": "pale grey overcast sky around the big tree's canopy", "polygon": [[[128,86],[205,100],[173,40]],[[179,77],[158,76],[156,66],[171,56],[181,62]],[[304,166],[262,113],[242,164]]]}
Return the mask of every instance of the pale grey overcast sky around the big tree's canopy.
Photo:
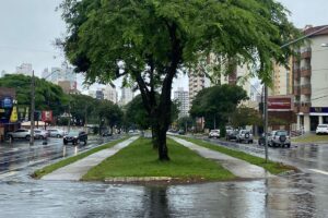
{"label": "pale grey overcast sky around the big tree's canopy", "polygon": [[[279,0],[291,12],[296,27],[328,24],[328,0]],[[60,66],[62,53],[52,46],[66,33],[61,0],[0,0],[0,72],[14,72],[21,63],[32,63],[37,75],[45,68]],[[187,86],[186,76],[177,86]]]}

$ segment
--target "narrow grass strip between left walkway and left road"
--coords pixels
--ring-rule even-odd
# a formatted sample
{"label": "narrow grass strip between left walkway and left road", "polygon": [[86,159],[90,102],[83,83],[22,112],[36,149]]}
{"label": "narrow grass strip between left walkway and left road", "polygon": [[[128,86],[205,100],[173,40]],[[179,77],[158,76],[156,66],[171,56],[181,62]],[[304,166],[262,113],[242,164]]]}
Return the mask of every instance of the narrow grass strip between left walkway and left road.
{"label": "narrow grass strip between left walkway and left road", "polygon": [[114,145],[116,145],[116,144],[118,144],[118,143],[120,143],[120,142],[122,142],[122,141],[125,141],[125,140],[128,140],[128,138],[129,138],[129,137],[124,137],[124,138],[121,138],[121,140],[113,141],[113,142],[107,143],[107,144],[105,144],[105,145],[102,145],[102,146],[95,147],[95,148],[93,148],[93,149],[90,149],[90,150],[87,150],[87,152],[85,152],[85,153],[81,153],[80,155],[77,155],[77,156],[73,156],[73,157],[69,157],[69,158],[66,158],[66,159],[60,160],[60,161],[58,161],[58,162],[55,162],[55,164],[52,164],[52,165],[46,166],[46,167],[44,167],[43,169],[36,170],[36,171],[32,174],[32,177],[33,177],[33,178],[36,178],[36,179],[40,179],[40,178],[44,177],[45,174],[48,174],[48,173],[50,173],[50,172],[52,172],[52,171],[55,171],[55,170],[57,170],[57,169],[59,169],[59,168],[62,168],[62,167],[65,167],[65,166],[68,166],[68,165],[72,164],[72,162],[74,162],[74,161],[77,161],[77,160],[80,160],[80,159],[82,159],[82,158],[84,158],[84,157],[86,157],[86,156],[89,156],[89,155],[92,155],[92,154],[94,154],[94,153],[97,153],[97,152],[99,152],[99,150],[102,150],[102,149],[106,149],[106,148],[113,147]]}

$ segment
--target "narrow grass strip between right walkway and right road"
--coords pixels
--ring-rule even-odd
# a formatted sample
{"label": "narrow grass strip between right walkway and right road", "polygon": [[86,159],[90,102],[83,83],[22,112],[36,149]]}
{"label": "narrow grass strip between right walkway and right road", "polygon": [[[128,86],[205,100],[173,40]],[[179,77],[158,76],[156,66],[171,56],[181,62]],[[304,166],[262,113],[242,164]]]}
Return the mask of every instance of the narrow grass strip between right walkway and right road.
{"label": "narrow grass strip between right walkway and right road", "polygon": [[274,161],[270,161],[270,160],[268,162],[266,162],[266,160],[263,158],[256,157],[256,156],[253,156],[253,155],[248,155],[248,154],[243,153],[243,152],[229,149],[229,148],[225,148],[225,147],[222,147],[222,146],[213,145],[211,143],[203,142],[201,140],[195,140],[195,138],[183,137],[183,136],[180,136],[180,138],[186,140],[188,142],[191,142],[194,144],[200,145],[202,147],[207,147],[207,148],[212,149],[212,150],[218,150],[218,152],[223,153],[225,155],[245,160],[245,161],[250,162],[253,165],[262,167],[272,174],[279,174],[281,172],[285,172],[285,171],[290,171],[290,170],[296,170],[294,167],[285,166],[281,162],[274,162]]}

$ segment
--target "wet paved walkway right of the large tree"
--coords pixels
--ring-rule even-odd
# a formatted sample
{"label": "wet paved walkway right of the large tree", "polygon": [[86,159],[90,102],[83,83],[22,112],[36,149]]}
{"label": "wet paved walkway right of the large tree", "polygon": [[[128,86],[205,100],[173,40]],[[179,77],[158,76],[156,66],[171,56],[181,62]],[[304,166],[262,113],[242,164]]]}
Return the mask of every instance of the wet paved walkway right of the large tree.
{"label": "wet paved walkway right of the large tree", "polygon": [[274,177],[267,172],[263,168],[251,165],[245,160],[241,160],[229,155],[224,155],[216,150],[211,150],[206,147],[196,145],[185,140],[180,140],[178,137],[171,136],[177,143],[188,147],[189,149],[198,153],[200,156],[204,158],[210,158],[219,161],[222,167],[231,171],[238,178],[245,179],[259,179],[259,178],[267,178],[267,177]]}

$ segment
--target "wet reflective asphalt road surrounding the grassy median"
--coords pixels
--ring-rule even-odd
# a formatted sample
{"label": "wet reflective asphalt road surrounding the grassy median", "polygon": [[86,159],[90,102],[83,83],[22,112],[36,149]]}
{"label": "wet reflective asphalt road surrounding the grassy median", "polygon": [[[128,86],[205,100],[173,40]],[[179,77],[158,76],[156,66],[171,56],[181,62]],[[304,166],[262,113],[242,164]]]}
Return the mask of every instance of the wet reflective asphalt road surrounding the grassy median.
{"label": "wet reflective asphalt road surrounding the grassy median", "polygon": [[[57,146],[60,156],[62,145]],[[261,147],[256,145],[234,146],[262,155]],[[42,147],[39,152],[28,153],[39,157],[34,161],[47,157],[44,149],[49,150],[46,154],[57,150],[56,146]],[[73,147],[67,154],[73,154]],[[255,181],[189,185],[113,185],[31,179],[28,174],[47,162],[44,161],[0,175],[0,217],[324,218],[328,215],[328,175],[309,169],[327,170],[325,156],[327,145],[270,148],[270,157],[288,159],[303,172]]]}

